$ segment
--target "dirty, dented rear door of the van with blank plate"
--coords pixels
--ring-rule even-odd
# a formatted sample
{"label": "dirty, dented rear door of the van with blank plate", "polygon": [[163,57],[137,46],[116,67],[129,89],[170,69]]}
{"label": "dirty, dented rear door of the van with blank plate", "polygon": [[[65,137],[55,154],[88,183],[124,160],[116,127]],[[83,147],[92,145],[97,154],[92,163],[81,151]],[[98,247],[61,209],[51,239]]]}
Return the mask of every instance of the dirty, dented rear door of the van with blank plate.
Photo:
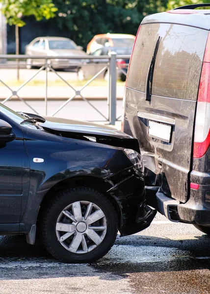
{"label": "dirty, dented rear door of the van with blank plate", "polygon": [[138,139],[146,184],[160,186],[161,192],[181,202],[187,200],[189,188],[208,32],[190,25],[156,23],[151,16],[151,23],[140,27],[127,78],[124,131]]}

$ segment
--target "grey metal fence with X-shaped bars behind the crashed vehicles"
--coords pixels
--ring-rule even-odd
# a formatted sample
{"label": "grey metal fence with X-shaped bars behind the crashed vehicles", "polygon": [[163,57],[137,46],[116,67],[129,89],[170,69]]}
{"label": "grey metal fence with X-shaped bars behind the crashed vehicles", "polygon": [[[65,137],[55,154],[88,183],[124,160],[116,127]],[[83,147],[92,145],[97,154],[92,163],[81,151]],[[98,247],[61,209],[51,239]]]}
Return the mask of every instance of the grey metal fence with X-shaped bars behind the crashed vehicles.
{"label": "grey metal fence with X-shaped bars behind the crashed vehicles", "polygon": [[[18,89],[15,91],[7,85],[7,83],[3,80],[2,77],[0,77],[0,83],[2,83],[7,89],[11,91],[11,94],[6,97],[1,103],[4,104],[8,100],[10,100],[12,97],[17,97],[19,100],[23,101],[26,103],[30,109],[35,112],[36,114],[39,114],[34,108],[31,107],[31,105],[23,99],[19,95],[19,91],[26,86],[26,84],[31,81],[38,73],[41,71],[45,71],[45,115],[48,114],[48,73],[49,71],[53,72],[56,74],[67,86],[69,86],[73,91],[74,95],[68,98],[63,104],[61,104],[56,111],[54,111],[51,116],[54,116],[57,112],[59,112],[63,107],[65,107],[70,101],[72,101],[76,97],[80,97],[83,101],[87,102],[91,107],[93,107],[100,115],[108,121],[110,124],[115,124],[115,121],[119,120],[119,118],[116,117],[116,83],[117,83],[117,70],[122,72],[123,74],[126,75],[126,71],[124,70],[124,67],[128,65],[124,65],[123,67],[118,65],[117,60],[118,59],[129,59],[130,55],[120,55],[117,56],[115,52],[110,52],[109,55],[107,56],[93,56],[93,55],[79,55],[79,56],[29,56],[29,55],[0,55],[0,60],[5,60],[5,59],[15,59],[17,62],[17,67],[19,68],[20,65],[20,60],[43,60],[42,66],[37,69],[36,73],[34,73],[32,76],[30,76]],[[92,60],[94,62],[94,59],[96,60],[106,60],[107,64],[104,64],[104,67],[96,73],[92,78],[87,80],[83,86],[79,90],[76,90],[74,86],[71,85],[67,80],[65,80],[52,66],[53,60],[57,61],[63,61],[65,60],[75,60],[78,65],[78,68],[80,66],[85,66],[85,61],[87,60]],[[83,60],[83,62],[81,62]],[[88,99],[86,99],[82,95],[82,90],[86,88],[94,79],[96,79],[100,74],[106,72],[108,73],[108,82],[107,82],[107,107],[108,107],[108,116],[105,116],[104,113],[102,113],[99,109],[97,109],[93,103],[91,103]]]}

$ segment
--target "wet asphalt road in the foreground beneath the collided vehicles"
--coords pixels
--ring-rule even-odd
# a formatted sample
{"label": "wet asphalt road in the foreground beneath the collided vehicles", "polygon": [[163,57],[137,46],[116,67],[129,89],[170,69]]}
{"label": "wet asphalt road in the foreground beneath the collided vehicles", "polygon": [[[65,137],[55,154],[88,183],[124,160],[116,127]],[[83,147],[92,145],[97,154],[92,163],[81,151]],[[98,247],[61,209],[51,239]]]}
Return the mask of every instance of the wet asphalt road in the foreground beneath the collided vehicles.
{"label": "wet asphalt road in the foreground beneath the collided vehicles", "polygon": [[92,265],[62,264],[24,236],[0,237],[0,294],[210,294],[210,238],[157,215]]}

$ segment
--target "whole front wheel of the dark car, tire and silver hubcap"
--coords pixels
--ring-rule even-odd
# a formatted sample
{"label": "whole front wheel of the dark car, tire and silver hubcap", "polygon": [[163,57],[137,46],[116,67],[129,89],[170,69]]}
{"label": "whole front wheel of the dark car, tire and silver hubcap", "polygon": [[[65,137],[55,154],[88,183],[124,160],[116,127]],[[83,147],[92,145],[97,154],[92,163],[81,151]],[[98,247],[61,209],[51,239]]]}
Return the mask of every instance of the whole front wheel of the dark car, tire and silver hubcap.
{"label": "whole front wheel of the dark car, tire and silver hubcap", "polygon": [[66,263],[88,263],[102,258],[114,244],[117,229],[112,203],[99,191],[86,187],[59,191],[48,202],[41,218],[45,248]]}

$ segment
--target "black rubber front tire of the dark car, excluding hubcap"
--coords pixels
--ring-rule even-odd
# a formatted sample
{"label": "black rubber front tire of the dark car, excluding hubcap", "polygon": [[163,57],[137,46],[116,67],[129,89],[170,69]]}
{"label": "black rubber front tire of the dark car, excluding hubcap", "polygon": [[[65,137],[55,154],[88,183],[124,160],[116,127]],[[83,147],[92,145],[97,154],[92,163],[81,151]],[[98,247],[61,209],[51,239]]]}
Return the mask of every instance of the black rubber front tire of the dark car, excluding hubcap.
{"label": "black rubber front tire of the dark car, excluding hubcap", "polygon": [[[64,248],[58,240],[55,228],[63,210],[71,206],[71,203],[80,202],[91,202],[104,212],[106,219],[106,233],[104,239],[102,238],[103,241],[94,249],[83,254],[73,253]],[[76,187],[57,192],[48,202],[40,222],[41,237],[45,248],[53,257],[66,263],[89,263],[102,258],[114,244],[118,230],[117,214],[112,203],[99,191],[87,187]]]}

